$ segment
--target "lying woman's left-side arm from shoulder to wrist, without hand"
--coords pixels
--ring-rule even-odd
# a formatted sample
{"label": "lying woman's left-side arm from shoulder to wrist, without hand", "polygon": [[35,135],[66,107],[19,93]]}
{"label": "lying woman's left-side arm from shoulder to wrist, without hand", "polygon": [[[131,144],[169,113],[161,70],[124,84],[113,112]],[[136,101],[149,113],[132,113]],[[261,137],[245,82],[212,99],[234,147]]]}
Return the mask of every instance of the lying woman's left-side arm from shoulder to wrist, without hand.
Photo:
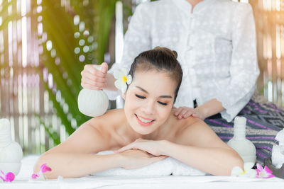
{"label": "lying woman's left-side arm from shoulder to wrist, without hand", "polygon": [[40,156],[34,166],[35,173],[45,163],[52,168],[52,171],[45,174],[48,178],[73,178],[117,167],[116,155],[95,154],[108,149],[109,138],[106,133],[91,125],[90,122],[94,122],[94,119],[84,123],[65,142]]}

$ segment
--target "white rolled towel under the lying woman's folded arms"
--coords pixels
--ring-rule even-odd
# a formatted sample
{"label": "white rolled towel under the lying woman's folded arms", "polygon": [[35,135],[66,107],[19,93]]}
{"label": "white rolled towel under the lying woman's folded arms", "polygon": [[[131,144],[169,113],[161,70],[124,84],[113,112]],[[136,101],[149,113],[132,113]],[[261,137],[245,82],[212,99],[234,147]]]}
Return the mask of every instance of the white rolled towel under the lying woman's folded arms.
{"label": "white rolled towel under the lying woman's folded arms", "polygon": [[[101,151],[98,154],[114,154],[114,151]],[[169,176],[169,175],[193,175],[204,176],[203,171],[187,166],[171,157],[156,161],[155,163],[141,168],[124,169],[111,168],[106,171],[92,173],[92,176]]]}

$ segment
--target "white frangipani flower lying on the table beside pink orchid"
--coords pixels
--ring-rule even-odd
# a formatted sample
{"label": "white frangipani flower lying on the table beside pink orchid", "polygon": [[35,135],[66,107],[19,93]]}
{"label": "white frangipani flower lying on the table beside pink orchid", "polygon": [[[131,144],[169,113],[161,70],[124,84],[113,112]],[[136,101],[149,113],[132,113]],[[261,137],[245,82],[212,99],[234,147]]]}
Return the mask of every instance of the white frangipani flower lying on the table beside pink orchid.
{"label": "white frangipani flower lying on the table beside pink orchid", "polygon": [[256,178],[256,170],[252,169],[253,168],[253,163],[251,162],[246,162],[244,164],[244,170],[240,168],[239,166],[235,166],[231,170],[231,176],[240,176],[240,177],[249,177],[249,178]]}

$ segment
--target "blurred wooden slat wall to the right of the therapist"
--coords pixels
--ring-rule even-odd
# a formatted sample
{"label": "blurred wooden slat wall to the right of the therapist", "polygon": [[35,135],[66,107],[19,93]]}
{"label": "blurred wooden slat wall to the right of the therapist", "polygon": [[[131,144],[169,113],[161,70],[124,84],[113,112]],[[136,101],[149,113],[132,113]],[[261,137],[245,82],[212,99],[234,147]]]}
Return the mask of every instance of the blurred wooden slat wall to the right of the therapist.
{"label": "blurred wooden slat wall to the right of the therapist", "polygon": [[268,101],[284,102],[284,1],[250,1],[256,19],[258,65],[261,74],[258,90]]}

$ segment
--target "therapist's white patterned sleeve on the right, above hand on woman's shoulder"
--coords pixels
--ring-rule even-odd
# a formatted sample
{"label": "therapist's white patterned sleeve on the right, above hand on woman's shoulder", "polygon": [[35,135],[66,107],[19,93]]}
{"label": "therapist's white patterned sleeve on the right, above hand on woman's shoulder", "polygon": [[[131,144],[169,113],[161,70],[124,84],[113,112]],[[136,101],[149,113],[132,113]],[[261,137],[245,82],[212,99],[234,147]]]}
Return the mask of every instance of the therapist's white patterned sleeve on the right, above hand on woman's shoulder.
{"label": "therapist's white patterned sleeve on the right, above hand on woman's shoulder", "polygon": [[229,86],[220,86],[217,100],[222,102],[222,118],[231,122],[249,102],[259,75],[256,55],[256,28],[250,4],[236,7],[232,22],[232,55]]}

